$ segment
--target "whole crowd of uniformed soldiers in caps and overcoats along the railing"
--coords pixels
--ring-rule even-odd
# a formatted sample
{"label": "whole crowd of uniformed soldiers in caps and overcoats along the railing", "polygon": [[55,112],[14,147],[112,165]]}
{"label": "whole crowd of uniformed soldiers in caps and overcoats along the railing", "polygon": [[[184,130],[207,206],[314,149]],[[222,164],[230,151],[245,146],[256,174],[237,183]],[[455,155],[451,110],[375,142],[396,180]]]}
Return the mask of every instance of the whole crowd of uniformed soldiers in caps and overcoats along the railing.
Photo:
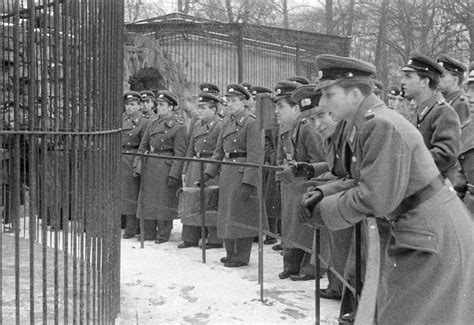
{"label": "whole crowd of uniformed soldiers in caps and overcoats along the railing", "polygon": [[[123,237],[136,237],[143,219],[145,240],[168,241],[179,189],[217,188],[217,213],[205,231],[181,216],[178,247],[198,246],[205,233],[201,245],[224,248],[225,267],[248,265],[258,234],[257,169],[206,163],[202,179],[199,159],[258,164],[263,155],[266,165],[279,167],[264,172],[262,186],[264,227],[286,239],[264,240],[282,250],[280,279],[323,276],[300,248],[311,250],[316,227],[321,255],[354,284],[353,227],[372,216],[381,244],[376,321],[470,323],[474,66],[469,71],[447,55],[434,60],[414,54],[401,67],[400,86],[386,91],[368,62],[320,55],[316,64],[320,76],[314,84],[300,76],[277,82],[273,91],[230,84],[224,97],[216,85],[201,84],[189,127],[174,114],[173,93],[126,92],[123,150],[169,159],[123,155]],[[388,105],[381,99],[385,92]],[[262,148],[253,98],[265,95],[274,115]],[[364,254],[362,259],[364,264]],[[340,322],[352,322],[356,297],[332,272],[327,276],[329,286],[320,296],[341,300]]]}

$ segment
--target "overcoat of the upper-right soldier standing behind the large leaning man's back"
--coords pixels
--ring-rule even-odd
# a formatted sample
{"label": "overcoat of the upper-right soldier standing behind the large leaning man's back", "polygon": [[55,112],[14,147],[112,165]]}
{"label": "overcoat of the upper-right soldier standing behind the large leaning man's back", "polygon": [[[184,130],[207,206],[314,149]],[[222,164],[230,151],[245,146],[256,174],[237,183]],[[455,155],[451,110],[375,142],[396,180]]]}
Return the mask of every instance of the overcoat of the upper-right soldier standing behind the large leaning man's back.
{"label": "overcoat of the upper-right soldier standing behind the large leaning man's back", "polygon": [[461,124],[456,111],[436,93],[416,108],[416,127],[443,176],[456,169]]}

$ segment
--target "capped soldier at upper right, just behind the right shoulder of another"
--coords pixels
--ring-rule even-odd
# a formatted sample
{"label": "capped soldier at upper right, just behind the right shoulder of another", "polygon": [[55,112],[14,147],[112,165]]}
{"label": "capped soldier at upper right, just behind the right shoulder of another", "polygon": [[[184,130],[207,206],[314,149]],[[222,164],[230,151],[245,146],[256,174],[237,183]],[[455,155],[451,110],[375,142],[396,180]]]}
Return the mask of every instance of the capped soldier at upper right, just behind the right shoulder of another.
{"label": "capped soldier at upper right, just behind the right shoulder of another", "polygon": [[463,127],[469,118],[469,107],[462,89],[466,67],[458,60],[446,54],[438,57],[438,64],[443,67],[443,75],[439,80],[439,89],[446,102],[458,113],[461,127]]}

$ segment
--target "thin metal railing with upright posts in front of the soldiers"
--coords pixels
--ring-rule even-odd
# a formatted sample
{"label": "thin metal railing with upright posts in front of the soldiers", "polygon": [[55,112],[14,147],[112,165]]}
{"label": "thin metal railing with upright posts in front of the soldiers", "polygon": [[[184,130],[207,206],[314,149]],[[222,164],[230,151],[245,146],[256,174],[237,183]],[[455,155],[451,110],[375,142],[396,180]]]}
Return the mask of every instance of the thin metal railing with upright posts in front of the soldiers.
{"label": "thin metal railing with upright posts in front of the soldiers", "polygon": [[[269,230],[264,229],[263,225],[263,218],[264,210],[264,198],[263,198],[263,169],[274,169],[274,170],[281,170],[280,167],[263,165],[263,164],[254,164],[254,163],[243,163],[243,162],[231,162],[231,161],[216,161],[212,159],[205,159],[205,158],[189,158],[189,157],[175,157],[175,156],[165,156],[165,155],[158,155],[158,154],[145,154],[145,153],[135,153],[135,152],[127,152],[124,151],[122,154],[125,155],[134,155],[134,156],[142,156],[147,158],[154,158],[154,159],[167,159],[167,160],[181,160],[181,161],[188,161],[188,162],[198,162],[200,164],[200,171],[201,171],[201,184],[203,184],[204,180],[204,165],[205,164],[220,164],[220,165],[232,165],[235,167],[251,167],[257,168],[259,171],[259,179],[260,182],[258,183],[258,201],[259,201],[259,226],[254,227],[247,224],[232,222],[232,225],[240,227],[242,229],[248,230],[255,230],[258,231],[258,283],[260,285],[260,301],[265,303],[264,297],[264,279],[263,279],[263,235],[272,236],[282,241],[282,243],[290,244],[292,247],[304,250],[307,253],[310,253],[318,258],[315,259],[315,274],[320,274],[320,267],[322,265],[332,272],[347,288],[350,290],[351,293],[356,297],[358,303],[357,308],[357,316],[356,316],[356,324],[373,324],[375,322],[375,303],[377,297],[377,288],[378,288],[378,280],[379,280],[379,272],[380,272],[380,244],[379,244],[379,234],[377,223],[375,222],[374,218],[367,218],[367,220],[363,221],[365,224],[364,227],[361,227],[361,224],[357,224],[354,227],[354,245],[356,247],[356,259],[355,259],[355,272],[356,272],[356,279],[355,279],[355,286],[351,285],[344,275],[338,273],[333,266],[329,265],[329,263],[324,260],[324,258],[320,254],[320,230],[314,228],[314,245],[313,248],[310,249],[308,247],[302,246],[288,238],[285,238],[277,233],[273,233]],[[205,202],[205,191],[204,186],[200,187],[200,207],[201,207],[201,240],[204,242],[206,237],[205,233],[205,225],[206,225],[206,214],[204,211],[204,202]],[[144,228],[143,223],[141,223],[141,248],[144,248],[143,242],[143,234]],[[366,247],[361,247],[361,228],[365,231],[366,237]],[[361,250],[366,249],[366,274],[364,278],[364,287],[362,289],[362,265],[361,265]],[[206,248],[205,245],[201,245],[202,251],[202,262],[206,263]],[[320,279],[316,276],[315,279],[315,323],[320,323],[320,296],[319,296],[319,282]]]}

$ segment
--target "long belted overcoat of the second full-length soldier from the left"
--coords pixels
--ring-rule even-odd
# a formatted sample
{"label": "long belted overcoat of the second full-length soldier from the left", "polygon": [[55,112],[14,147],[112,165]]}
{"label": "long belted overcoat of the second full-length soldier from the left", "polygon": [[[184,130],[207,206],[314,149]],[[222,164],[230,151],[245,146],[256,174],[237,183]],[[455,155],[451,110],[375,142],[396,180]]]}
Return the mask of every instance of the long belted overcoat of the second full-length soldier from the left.
{"label": "long belted overcoat of the second full-length soldier from the left", "polygon": [[[153,117],[143,134],[138,152],[184,157],[187,149],[186,126],[174,114]],[[181,187],[183,161],[147,157],[142,159],[137,218],[169,220],[176,218],[178,187],[168,187],[168,177]]]}

